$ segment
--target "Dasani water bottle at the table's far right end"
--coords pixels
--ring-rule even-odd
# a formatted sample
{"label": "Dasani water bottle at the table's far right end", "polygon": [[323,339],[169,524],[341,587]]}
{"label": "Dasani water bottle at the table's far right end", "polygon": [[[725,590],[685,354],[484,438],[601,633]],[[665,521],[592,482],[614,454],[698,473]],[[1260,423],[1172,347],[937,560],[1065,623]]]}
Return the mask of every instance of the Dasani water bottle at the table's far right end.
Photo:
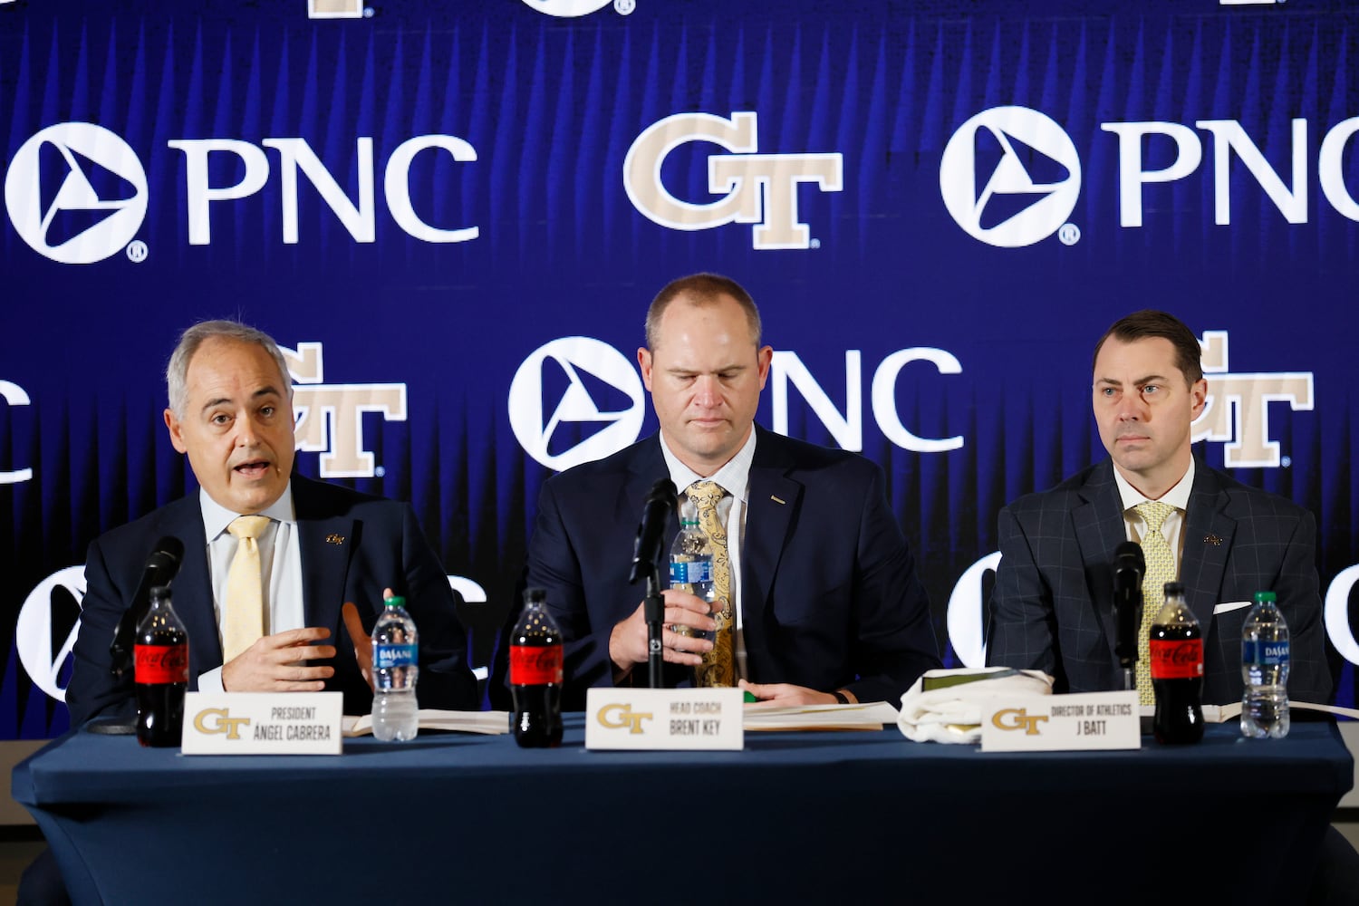
{"label": "Dasani water bottle at the table's far right end", "polygon": [[1288,735],[1288,623],[1272,591],[1257,591],[1241,628],[1241,735],[1283,739]]}

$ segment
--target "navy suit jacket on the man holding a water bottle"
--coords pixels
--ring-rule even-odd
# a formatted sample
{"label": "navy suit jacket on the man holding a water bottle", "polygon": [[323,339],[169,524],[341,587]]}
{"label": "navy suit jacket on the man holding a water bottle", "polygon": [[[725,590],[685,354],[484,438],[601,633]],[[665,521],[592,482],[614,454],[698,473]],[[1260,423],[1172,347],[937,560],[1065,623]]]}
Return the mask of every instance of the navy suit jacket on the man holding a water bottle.
{"label": "navy suit jacket on the man holding a water bottle", "polygon": [[[750,681],[849,689],[862,701],[896,704],[939,657],[882,470],[863,456],[756,431],[738,600]],[[651,485],[667,475],[651,436],[542,486],[527,581],[548,590],[565,640],[567,709],[584,708],[587,687],[613,685],[609,633],[644,595],[628,584],[637,520]],[[666,537],[674,538],[680,524],[674,515],[670,522]],[[689,678],[667,667],[667,685]],[[644,683],[646,664],[633,676]]]}

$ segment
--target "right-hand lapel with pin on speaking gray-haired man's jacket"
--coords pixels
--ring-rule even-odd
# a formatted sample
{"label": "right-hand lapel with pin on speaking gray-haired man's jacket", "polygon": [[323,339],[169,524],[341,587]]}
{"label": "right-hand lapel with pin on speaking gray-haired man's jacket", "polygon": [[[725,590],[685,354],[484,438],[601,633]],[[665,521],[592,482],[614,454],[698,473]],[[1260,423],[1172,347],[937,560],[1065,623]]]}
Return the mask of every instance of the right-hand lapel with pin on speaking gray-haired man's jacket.
{"label": "right-hand lapel with pin on speaking gray-haired man's jacket", "polygon": [[292,505],[298,518],[298,550],[302,554],[302,602],[307,626],[340,625],[349,554],[361,527],[349,516],[325,512],[317,501],[317,485],[292,478]]}

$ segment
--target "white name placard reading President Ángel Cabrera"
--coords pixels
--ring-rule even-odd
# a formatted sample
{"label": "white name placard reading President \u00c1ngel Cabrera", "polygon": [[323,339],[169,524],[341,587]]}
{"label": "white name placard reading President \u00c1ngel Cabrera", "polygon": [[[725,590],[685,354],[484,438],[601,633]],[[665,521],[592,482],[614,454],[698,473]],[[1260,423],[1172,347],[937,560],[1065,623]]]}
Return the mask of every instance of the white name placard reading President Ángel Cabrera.
{"label": "white name placard reading President \u00c1ngel Cabrera", "polygon": [[338,755],[342,693],[189,693],[185,755]]}

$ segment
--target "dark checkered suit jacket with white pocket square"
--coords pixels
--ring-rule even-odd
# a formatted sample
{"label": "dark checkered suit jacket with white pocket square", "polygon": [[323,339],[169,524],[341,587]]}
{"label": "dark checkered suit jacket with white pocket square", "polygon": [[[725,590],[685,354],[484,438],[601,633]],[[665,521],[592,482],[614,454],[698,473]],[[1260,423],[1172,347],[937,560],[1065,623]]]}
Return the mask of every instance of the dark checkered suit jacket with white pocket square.
{"label": "dark checkered suit jacket with white pocket square", "polygon": [[[1316,534],[1302,507],[1195,465],[1180,581],[1203,629],[1205,704],[1241,701],[1241,626],[1250,609],[1214,611],[1257,591],[1276,592],[1288,621],[1290,697],[1330,701]],[[1002,509],[988,663],[1042,670],[1059,693],[1121,689],[1112,561],[1127,539],[1109,459]]]}

